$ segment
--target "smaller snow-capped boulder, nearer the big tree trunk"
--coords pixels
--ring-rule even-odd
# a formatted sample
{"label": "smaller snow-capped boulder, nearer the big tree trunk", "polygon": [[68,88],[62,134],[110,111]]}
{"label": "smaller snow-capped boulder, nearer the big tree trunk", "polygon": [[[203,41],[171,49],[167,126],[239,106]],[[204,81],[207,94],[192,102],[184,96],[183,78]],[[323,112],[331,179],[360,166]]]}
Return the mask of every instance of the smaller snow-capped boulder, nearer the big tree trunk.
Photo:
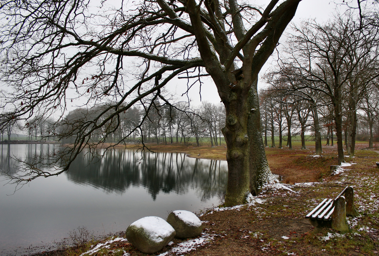
{"label": "smaller snow-capped boulder, nearer the big tree trunk", "polygon": [[201,235],[203,226],[195,214],[186,210],[175,210],[167,217],[167,222],[175,229],[180,239]]}

